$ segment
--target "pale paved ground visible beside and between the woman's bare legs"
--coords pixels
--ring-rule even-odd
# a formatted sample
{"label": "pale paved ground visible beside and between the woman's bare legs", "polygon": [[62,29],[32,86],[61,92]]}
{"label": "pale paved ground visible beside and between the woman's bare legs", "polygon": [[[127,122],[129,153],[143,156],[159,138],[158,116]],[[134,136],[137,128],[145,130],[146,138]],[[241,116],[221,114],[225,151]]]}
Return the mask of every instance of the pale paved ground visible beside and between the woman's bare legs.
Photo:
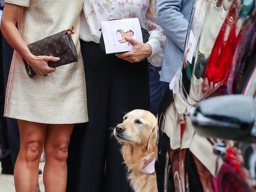
{"label": "pale paved ground visible beside and between the woman's bare legs", "polygon": [[[1,164],[1,162],[0,162]],[[45,163],[41,162],[39,168],[43,171]],[[1,165],[0,165],[0,173],[1,173]],[[41,192],[45,191],[43,186],[43,174],[39,175],[39,188]],[[15,192],[13,175],[2,175],[0,174],[0,192]]]}

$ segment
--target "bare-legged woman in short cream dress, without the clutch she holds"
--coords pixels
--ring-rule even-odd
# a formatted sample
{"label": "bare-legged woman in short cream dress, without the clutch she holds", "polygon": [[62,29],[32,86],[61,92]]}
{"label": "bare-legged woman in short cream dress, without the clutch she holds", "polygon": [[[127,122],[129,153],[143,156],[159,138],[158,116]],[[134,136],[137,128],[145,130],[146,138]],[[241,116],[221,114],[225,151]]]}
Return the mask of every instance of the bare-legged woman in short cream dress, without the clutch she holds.
{"label": "bare-legged woman in short cream dress, without the clutch she holds", "polygon": [[[43,148],[45,191],[65,192],[67,148],[75,123],[88,121],[84,65],[80,52],[83,0],[6,0],[1,30],[15,49],[6,89],[4,116],[18,119],[21,147],[15,164],[17,192],[35,192]],[[15,27],[18,21],[18,28]],[[71,26],[78,62],[48,66],[59,58],[34,56],[27,47]],[[22,58],[37,73],[30,78]],[[47,75],[47,76],[45,76]]]}

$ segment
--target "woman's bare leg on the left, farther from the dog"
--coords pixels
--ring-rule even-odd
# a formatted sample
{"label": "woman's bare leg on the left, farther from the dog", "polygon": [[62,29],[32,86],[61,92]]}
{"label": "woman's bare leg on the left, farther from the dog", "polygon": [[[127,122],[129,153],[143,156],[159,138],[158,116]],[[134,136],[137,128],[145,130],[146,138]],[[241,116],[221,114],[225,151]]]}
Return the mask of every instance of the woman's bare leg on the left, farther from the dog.
{"label": "woman's bare leg on the left, farther from the dog", "polygon": [[16,192],[36,192],[47,125],[18,120],[21,147],[14,168]]}

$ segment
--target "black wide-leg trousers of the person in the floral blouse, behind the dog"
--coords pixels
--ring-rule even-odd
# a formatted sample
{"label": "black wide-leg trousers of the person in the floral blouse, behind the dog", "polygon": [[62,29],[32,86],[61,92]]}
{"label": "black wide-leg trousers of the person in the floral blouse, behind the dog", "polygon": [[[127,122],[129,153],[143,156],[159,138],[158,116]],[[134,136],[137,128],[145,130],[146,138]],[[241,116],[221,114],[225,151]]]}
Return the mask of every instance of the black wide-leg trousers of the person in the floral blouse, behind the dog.
{"label": "black wide-leg trousers of the person in the floral blouse, behind the dog", "polygon": [[112,136],[126,112],[148,110],[148,62],[106,55],[93,42],[81,43],[89,122],[75,126],[68,157],[67,192],[130,192],[121,145]]}

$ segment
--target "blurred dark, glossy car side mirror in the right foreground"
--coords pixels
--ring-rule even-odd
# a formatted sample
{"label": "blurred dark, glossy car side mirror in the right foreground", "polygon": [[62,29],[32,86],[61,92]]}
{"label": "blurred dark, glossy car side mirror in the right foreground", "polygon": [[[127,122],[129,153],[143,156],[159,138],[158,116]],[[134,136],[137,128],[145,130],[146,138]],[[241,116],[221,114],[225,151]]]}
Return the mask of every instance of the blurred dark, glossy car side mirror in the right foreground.
{"label": "blurred dark, glossy car side mirror in the right foreground", "polygon": [[202,136],[256,143],[253,97],[224,95],[207,99],[198,104],[191,120]]}

